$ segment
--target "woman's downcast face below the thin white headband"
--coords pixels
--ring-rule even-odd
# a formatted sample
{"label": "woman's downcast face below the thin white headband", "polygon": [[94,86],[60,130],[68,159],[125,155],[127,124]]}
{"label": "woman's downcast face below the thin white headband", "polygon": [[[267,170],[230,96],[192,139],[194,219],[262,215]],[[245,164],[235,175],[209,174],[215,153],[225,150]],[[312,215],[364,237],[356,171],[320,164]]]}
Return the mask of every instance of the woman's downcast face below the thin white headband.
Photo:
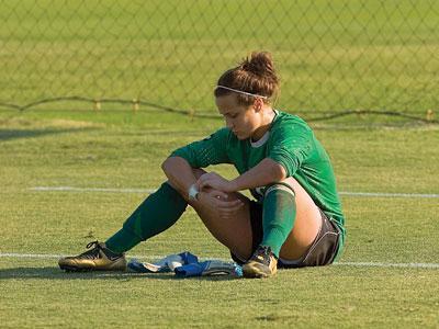
{"label": "woman's downcast face below the thin white headband", "polygon": [[224,116],[226,126],[232,129],[238,139],[246,139],[254,135],[260,126],[260,106],[261,100],[255,100],[255,103],[245,106],[239,105],[236,94],[227,94],[215,99],[218,112]]}

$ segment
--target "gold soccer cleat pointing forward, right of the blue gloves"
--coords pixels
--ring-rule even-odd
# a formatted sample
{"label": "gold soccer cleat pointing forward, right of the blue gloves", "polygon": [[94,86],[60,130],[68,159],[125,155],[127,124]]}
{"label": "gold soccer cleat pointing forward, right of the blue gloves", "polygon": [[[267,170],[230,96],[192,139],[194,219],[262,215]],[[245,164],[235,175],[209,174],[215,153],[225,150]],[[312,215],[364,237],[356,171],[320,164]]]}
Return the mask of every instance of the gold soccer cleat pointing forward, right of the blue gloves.
{"label": "gold soccer cleat pointing forward, right of the blue gloves", "polygon": [[259,246],[251,258],[243,265],[245,277],[268,277],[278,271],[278,259],[270,247]]}

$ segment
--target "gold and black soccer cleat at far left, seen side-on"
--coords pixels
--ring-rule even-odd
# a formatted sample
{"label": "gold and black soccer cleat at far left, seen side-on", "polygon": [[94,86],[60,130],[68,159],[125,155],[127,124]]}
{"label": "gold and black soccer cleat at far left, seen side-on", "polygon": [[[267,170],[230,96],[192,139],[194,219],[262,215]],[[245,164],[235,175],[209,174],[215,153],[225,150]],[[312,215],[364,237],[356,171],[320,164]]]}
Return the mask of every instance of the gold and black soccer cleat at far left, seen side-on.
{"label": "gold and black soccer cleat at far left, seen side-on", "polygon": [[99,241],[88,243],[87,249],[90,250],[79,256],[59,259],[59,268],[66,272],[126,270],[125,254],[114,253]]}

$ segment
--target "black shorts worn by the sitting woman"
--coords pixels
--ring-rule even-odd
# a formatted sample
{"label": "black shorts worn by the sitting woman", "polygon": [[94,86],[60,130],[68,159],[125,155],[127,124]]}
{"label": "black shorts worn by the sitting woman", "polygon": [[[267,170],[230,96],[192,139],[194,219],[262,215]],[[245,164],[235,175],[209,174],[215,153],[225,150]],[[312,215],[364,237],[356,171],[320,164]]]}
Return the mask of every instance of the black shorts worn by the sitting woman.
{"label": "black shorts worn by the sitting woman", "polygon": [[[292,269],[304,266],[322,266],[330,264],[337,256],[340,230],[324,212],[322,214],[322,227],[314,239],[309,249],[297,260],[278,260],[279,269]],[[259,247],[263,237],[262,228],[262,205],[250,201],[250,220],[252,231],[252,252]],[[232,259],[238,264],[245,263],[244,260],[232,253]]]}

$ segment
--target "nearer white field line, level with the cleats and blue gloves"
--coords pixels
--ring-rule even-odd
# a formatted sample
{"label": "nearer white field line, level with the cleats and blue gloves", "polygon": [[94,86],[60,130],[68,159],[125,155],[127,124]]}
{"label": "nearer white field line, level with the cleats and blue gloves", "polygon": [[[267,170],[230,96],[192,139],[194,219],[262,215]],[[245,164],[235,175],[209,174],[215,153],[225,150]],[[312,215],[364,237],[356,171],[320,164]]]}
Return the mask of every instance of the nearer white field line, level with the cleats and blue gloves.
{"label": "nearer white field line, level with the cleats and blue gloves", "polygon": [[[27,259],[59,259],[66,254],[50,254],[50,253],[15,253],[15,252],[0,252],[0,258],[27,258]],[[135,259],[158,260],[165,256],[131,256]],[[221,261],[230,261],[229,259],[210,258]],[[201,258],[204,260],[204,258]],[[360,268],[404,268],[404,269],[439,269],[439,263],[386,263],[386,262],[336,262],[334,265],[338,266],[360,266]]]}

